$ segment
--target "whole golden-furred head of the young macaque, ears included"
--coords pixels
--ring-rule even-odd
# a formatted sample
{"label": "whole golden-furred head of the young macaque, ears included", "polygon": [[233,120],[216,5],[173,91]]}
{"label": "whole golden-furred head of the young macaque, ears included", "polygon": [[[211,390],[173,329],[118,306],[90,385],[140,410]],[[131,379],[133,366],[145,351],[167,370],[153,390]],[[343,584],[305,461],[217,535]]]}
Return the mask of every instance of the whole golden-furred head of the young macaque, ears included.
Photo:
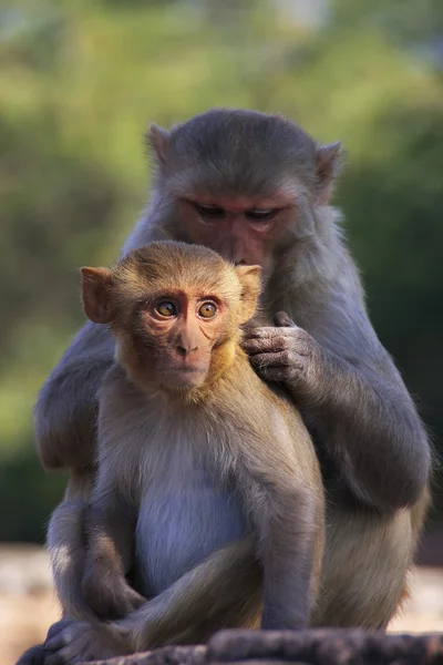
{"label": "whole golden-furred head of the young macaque, ears included", "polygon": [[188,393],[220,376],[260,290],[258,266],[168,241],[132,252],[113,269],[81,273],[87,318],[110,326],[117,361],[151,391]]}

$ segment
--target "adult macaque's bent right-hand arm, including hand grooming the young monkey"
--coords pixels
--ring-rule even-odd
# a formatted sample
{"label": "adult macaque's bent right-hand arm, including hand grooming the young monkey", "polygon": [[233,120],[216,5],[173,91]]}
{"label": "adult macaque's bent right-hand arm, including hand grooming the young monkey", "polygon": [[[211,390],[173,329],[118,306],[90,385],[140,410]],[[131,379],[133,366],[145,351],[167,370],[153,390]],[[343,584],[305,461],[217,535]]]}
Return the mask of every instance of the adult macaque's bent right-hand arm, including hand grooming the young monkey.
{"label": "adult macaque's bent right-hand arm, including hand grooming the young monkey", "polygon": [[285,314],[278,315],[285,327],[256,330],[245,348],[261,376],[285,382],[359,501],[380,510],[410,507],[429,480],[426,432],[363,311],[361,320],[353,338],[329,329],[343,354],[356,349],[352,359],[320,346]]}

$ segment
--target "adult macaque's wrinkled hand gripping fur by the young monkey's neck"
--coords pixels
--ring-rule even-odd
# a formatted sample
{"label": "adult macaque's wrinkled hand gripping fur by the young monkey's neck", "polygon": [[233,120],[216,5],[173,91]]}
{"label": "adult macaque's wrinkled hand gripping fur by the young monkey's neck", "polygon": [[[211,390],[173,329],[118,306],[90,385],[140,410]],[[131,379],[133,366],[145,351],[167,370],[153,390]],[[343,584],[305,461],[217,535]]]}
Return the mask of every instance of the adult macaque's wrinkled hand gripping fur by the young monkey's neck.
{"label": "adult macaque's wrinkled hand gripping fur by the young monkey's neck", "polygon": [[321,387],[323,351],[317,341],[285,313],[278,327],[248,330],[241,346],[264,379],[282,383],[297,397],[317,398]]}

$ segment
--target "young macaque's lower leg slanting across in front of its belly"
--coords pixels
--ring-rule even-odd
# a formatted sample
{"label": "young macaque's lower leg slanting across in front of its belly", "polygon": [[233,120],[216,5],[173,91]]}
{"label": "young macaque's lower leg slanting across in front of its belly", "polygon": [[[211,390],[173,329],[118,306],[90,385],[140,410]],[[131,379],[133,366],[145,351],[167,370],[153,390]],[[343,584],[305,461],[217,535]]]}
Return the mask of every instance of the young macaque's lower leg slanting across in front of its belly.
{"label": "young macaque's lower leg slanting across in front of its belly", "polygon": [[262,571],[256,551],[256,536],[218,550],[114,625],[134,651],[204,643],[222,628],[259,627]]}

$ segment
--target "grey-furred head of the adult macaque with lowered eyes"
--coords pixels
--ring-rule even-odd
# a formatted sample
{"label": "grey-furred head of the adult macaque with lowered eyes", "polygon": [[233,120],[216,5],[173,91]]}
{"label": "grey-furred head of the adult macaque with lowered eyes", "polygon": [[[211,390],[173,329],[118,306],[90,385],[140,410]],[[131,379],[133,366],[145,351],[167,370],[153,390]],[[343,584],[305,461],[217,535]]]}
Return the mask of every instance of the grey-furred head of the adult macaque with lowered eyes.
{"label": "grey-furred head of the adult macaque with lowered eyes", "polygon": [[[285,117],[241,110],[208,111],[171,132],[153,124],[147,141],[154,215],[174,238],[258,264],[265,280],[276,266],[286,272],[285,256],[293,263],[297,243],[315,245],[316,209],[328,203],[340,143],[319,146]],[[303,264],[312,259],[307,249]]]}

